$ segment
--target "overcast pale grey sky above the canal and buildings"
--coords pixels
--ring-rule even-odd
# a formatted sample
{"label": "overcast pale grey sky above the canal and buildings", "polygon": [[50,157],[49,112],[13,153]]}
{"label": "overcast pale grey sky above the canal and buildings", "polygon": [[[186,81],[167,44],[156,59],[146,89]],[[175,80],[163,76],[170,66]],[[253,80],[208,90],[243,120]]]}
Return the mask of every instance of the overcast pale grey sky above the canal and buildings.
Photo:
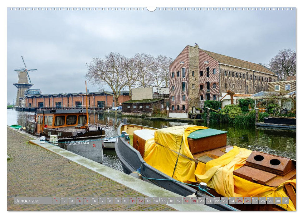
{"label": "overcast pale grey sky above the canal and buildings", "polygon": [[[7,101],[16,99],[15,68],[24,57],[43,94],[84,92],[86,63],[110,52],[167,55],[186,45],[254,63],[268,63],[279,50],[296,50],[296,9],[59,11],[7,9]],[[98,87],[88,83],[90,91]]]}

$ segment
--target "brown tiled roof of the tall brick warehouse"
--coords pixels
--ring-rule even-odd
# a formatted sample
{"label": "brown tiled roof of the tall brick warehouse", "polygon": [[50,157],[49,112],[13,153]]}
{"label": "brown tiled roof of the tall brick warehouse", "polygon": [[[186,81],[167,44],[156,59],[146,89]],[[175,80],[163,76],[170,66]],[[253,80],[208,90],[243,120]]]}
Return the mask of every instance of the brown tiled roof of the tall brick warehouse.
{"label": "brown tiled roof of the tall brick warehouse", "polygon": [[[201,49],[201,50],[203,50],[203,49]],[[263,66],[261,64],[255,64],[255,63],[252,63],[249,61],[232,58],[232,57],[229,57],[226,55],[220,55],[220,54],[217,54],[217,53],[214,53],[211,51],[206,51],[206,50],[203,50],[203,51],[205,53],[207,53],[208,55],[212,56],[217,61],[219,61],[220,64],[227,64],[227,65],[245,68],[245,69],[249,69],[249,70],[253,70],[253,71],[259,71],[262,73],[269,73],[269,74],[276,76],[275,72],[271,71],[270,69],[266,68],[265,66]]]}

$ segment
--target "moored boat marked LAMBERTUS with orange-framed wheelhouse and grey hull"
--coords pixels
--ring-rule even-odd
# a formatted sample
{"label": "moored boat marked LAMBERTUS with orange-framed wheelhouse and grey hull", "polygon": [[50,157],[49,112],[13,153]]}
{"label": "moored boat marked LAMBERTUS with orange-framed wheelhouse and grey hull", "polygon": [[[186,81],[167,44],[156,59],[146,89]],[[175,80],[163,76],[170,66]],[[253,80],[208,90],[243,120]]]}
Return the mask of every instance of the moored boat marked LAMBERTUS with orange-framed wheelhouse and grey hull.
{"label": "moored boat marked LAMBERTUS with orange-framed wheelhouse and grey hull", "polygon": [[[27,121],[23,128],[37,137],[102,163],[105,130],[88,124],[88,111],[82,109],[37,111],[34,121]],[[50,140],[57,135],[57,141]],[[56,139],[56,137],[55,137]]]}

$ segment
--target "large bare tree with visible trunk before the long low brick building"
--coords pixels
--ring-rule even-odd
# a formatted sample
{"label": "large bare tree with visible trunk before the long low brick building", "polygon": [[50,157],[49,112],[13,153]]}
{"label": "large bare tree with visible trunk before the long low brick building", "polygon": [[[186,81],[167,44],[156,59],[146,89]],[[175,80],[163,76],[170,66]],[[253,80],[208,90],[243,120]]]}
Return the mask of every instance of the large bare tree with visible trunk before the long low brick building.
{"label": "large bare tree with visible trunk before the long low brick building", "polygon": [[[125,75],[121,68],[123,56],[111,52],[104,59],[93,57],[87,64],[85,77],[95,85],[108,85],[113,93],[107,93],[115,97],[115,105],[119,105],[118,98],[125,87]],[[104,92],[104,90],[103,90]]]}

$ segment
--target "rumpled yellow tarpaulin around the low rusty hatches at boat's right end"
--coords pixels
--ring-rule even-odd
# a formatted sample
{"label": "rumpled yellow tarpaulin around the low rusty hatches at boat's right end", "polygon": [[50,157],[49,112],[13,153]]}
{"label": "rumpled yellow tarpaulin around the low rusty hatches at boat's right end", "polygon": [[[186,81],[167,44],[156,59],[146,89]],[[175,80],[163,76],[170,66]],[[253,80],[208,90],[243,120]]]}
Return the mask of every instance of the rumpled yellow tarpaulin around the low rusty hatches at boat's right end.
{"label": "rumpled yellow tarpaulin around the low rusty hatches at boat's right end", "polygon": [[[252,151],[233,146],[233,149],[206,164],[199,162],[195,171],[197,182],[206,182],[207,186],[224,197],[287,197],[283,186],[296,180],[286,181],[279,187],[269,187],[233,175],[233,171],[245,164]],[[285,210],[295,211],[294,204],[279,204]]]}

